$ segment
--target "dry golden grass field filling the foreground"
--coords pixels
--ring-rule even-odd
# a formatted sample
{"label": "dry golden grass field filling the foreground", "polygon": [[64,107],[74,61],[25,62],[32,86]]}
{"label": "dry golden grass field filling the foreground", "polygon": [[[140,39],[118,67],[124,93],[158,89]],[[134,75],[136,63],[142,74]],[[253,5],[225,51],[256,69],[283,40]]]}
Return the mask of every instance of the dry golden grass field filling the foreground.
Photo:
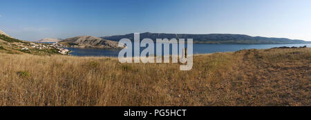
{"label": "dry golden grass field filling the foreground", "polygon": [[311,48],[178,63],[0,53],[0,106],[311,106]]}

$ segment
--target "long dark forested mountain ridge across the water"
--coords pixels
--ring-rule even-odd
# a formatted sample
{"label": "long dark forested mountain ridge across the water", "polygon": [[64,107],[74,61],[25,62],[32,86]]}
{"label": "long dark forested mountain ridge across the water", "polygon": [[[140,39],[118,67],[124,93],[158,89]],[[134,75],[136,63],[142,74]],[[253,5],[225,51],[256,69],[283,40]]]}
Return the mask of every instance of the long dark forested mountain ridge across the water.
{"label": "long dark forested mountain ridge across the water", "polygon": [[[109,37],[100,37],[112,41],[119,41],[128,38],[133,41],[134,34],[114,35]],[[298,39],[273,38],[273,37],[251,37],[245,34],[167,34],[144,32],[140,34],[140,39],[194,39],[194,43],[214,43],[214,44],[286,44],[286,43],[311,43]]]}

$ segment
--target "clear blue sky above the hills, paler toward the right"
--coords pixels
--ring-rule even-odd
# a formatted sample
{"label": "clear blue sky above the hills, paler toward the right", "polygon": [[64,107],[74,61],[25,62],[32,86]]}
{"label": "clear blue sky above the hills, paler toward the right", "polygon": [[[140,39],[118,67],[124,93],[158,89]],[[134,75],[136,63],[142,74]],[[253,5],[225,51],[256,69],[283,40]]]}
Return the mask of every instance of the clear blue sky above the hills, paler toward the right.
{"label": "clear blue sky above the hills, paler toward the right", "polygon": [[311,1],[1,0],[0,30],[23,40],[161,32],[311,41]]}

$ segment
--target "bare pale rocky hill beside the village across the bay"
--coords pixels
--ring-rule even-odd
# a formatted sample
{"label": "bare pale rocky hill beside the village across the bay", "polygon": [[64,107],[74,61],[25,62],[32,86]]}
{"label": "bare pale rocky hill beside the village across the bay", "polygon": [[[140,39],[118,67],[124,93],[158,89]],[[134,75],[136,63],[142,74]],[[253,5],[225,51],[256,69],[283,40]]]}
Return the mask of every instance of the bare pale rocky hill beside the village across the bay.
{"label": "bare pale rocky hill beside the village across the bay", "polygon": [[117,41],[110,41],[92,36],[71,37],[59,41],[59,43],[74,48],[119,48]]}

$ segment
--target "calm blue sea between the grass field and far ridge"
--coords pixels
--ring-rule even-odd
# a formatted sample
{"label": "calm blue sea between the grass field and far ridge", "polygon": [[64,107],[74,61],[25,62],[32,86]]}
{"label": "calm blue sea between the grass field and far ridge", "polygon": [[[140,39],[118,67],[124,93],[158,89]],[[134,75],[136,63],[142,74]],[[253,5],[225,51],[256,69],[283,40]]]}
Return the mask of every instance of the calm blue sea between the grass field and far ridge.
{"label": "calm blue sea between the grass field and far ridge", "polygon": [[[234,52],[238,50],[246,49],[267,49],[275,47],[300,47],[307,46],[311,47],[311,44],[261,44],[261,45],[233,45],[233,44],[194,44],[194,54],[206,54],[214,52]],[[108,56],[108,57],[117,57],[120,50],[101,50],[101,49],[77,49],[77,48],[68,48],[71,50],[70,53],[73,56]],[[140,48],[140,51],[144,48]],[[155,50],[156,51],[156,50]]]}

